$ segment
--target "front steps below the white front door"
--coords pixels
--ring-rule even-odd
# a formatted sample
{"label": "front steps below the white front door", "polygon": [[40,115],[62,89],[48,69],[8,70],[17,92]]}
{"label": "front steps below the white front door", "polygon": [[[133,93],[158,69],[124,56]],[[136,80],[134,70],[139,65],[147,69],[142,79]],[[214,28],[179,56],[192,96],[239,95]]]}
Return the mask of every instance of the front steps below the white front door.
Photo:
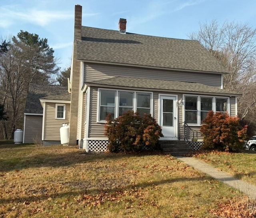
{"label": "front steps below the white front door", "polygon": [[159,144],[164,153],[170,153],[172,156],[186,156],[193,151],[186,141],[161,140]]}

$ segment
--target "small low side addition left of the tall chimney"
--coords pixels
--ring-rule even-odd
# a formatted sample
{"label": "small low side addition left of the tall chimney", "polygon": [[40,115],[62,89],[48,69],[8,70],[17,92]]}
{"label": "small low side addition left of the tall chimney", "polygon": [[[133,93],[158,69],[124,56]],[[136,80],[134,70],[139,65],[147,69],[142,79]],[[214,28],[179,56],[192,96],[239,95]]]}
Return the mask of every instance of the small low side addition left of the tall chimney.
{"label": "small low side addition left of the tall chimney", "polygon": [[69,123],[68,87],[30,84],[24,110],[23,143],[60,144],[60,128]]}

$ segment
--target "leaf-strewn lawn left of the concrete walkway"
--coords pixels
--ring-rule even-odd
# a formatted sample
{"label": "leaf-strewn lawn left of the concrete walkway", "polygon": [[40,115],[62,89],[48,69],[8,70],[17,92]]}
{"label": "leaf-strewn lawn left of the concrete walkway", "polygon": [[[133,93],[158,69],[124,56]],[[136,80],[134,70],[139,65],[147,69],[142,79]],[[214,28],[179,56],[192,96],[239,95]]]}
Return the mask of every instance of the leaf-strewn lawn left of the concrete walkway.
{"label": "leaf-strewn lawn left of the concrete walkway", "polygon": [[0,217],[216,217],[247,199],[162,153],[4,144],[0,153]]}

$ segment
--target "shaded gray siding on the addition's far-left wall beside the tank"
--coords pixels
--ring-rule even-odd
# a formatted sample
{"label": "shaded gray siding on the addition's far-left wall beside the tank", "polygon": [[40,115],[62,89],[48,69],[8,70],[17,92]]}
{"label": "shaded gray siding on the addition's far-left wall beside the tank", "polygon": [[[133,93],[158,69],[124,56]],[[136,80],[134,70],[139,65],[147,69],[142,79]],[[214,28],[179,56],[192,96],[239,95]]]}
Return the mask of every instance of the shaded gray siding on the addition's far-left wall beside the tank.
{"label": "shaded gray siding on the addition's far-left wall beside the tank", "polygon": [[43,116],[26,115],[24,143],[34,143],[33,138],[42,139]]}

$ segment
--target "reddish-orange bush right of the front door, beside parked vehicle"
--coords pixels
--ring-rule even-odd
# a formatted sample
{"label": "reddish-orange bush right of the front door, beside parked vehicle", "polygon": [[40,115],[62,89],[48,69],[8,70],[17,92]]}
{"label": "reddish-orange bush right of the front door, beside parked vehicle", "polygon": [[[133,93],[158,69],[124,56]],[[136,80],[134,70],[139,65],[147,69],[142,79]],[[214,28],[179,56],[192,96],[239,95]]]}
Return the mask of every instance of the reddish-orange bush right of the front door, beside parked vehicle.
{"label": "reddish-orange bush right of the front door, beside parked vehicle", "polygon": [[243,149],[247,126],[240,125],[238,117],[209,111],[200,128],[204,137],[202,149],[237,152]]}

